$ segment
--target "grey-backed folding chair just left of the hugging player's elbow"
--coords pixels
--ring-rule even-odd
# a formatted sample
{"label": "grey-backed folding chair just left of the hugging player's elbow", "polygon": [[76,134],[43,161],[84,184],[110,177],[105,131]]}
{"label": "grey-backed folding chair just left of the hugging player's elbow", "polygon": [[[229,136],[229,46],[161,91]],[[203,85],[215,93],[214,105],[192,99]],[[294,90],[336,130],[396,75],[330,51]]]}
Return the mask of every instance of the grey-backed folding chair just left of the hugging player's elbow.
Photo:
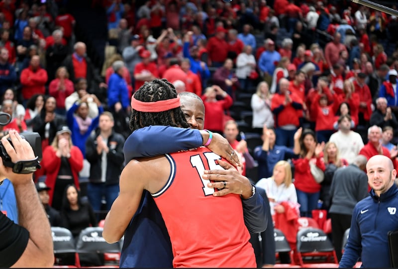
{"label": "grey-backed folding chair just left of the hugging player's elbow", "polygon": [[120,243],[106,243],[102,231],[102,227],[88,227],[80,233],[76,243],[78,267],[119,267]]}

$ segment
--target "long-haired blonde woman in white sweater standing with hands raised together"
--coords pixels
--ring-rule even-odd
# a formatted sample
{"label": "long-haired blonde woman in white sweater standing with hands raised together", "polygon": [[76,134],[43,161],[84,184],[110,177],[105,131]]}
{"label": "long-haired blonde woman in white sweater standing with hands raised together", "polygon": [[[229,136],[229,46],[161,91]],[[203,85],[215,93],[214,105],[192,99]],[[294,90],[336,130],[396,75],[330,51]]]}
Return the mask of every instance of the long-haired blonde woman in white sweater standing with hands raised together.
{"label": "long-haired blonde woman in white sweater standing with hands raised together", "polygon": [[263,133],[264,124],[267,128],[274,127],[274,115],[271,111],[272,94],[268,83],[262,81],[258,84],[256,93],[252,95],[250,105],[253,110],[252,128],[259,134]]}

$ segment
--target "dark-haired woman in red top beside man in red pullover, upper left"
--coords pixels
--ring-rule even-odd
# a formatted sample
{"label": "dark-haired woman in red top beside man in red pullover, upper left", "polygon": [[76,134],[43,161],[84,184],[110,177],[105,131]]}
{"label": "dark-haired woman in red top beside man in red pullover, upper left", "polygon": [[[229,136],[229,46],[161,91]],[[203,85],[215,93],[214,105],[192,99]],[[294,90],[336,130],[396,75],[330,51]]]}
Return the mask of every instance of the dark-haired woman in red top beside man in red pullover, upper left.
{"label": "dark-haired woman in red top beside man in red pullover, upper left", "polygon": [[65,99],[75,91],[73,82],[69,80],[66,67],[61,66],[55,72],[55,79],[48,86],[48,93],[57,100],[56,112],[60,115],[66,114]]}

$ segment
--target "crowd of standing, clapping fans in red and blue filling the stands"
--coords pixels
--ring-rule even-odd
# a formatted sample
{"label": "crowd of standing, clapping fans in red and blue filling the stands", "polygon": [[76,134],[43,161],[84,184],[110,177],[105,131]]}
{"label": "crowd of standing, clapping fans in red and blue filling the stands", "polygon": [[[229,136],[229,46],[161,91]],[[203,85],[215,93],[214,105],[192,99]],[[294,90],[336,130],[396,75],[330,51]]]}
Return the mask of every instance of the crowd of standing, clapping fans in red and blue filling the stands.
{"label": "crowd of standing, clapping fans in red and blue filling the stands", "polygon": [[[243,160],[247,154],[256,160],[247,167],[255,176],[247,176],[261,179],[267,191],[275,180],[301,216],[329,209],[334,171],[358,155],[383,154],[398,164],[397,17],[346,0],[92,5],[106,12],[105,50],[113,51],[102,66],[76,40],[79,22],[67,1],[0,1],[0,102],[12,117],[1,135],[40,134],[43,161],[35,181],[46,182],[48,204],[69,223],[70,208],[90,212],[78,214],[87,225],[96,224],[92,212],[110,208],[118,192],[112,177],[123,168],[130,134],[131,96],[156,78],[201,97],[206,129],[222,134],[235,120],[237,130],[261,137],[257,145],[237,146]],[[238,131],[235,138],[245,140]],[[291,176],[276,175],[288,165]],[[283,211],[281,202],[273,197],[274,214]]]}

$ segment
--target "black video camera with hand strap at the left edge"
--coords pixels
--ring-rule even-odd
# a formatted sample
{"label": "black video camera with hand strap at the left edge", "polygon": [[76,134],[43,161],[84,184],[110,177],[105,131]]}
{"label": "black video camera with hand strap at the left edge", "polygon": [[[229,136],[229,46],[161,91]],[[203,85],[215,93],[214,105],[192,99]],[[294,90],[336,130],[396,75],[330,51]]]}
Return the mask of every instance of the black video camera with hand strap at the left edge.
{"label": "black video camera with hand strap at the left edge", "polygon": [[[11,121],[11,116],[7,113],[0,112],[0,125],[7,125]],[[33,160],[19,161],[13,163],[11,157],[8,155],[3,144],[0,141],[0,157],[3,161],[4,166],[12,168],[12,172],[16,174],[30,174],[40,168],[40,161],[43,158],[41,150],[41,138],[38,133],[34,132],[23,132],[20,136],[29,142],[29,145],[33,149],[33,153],[36,156]],[[11,139],[8,138],[9,143],[12,146]]]}

